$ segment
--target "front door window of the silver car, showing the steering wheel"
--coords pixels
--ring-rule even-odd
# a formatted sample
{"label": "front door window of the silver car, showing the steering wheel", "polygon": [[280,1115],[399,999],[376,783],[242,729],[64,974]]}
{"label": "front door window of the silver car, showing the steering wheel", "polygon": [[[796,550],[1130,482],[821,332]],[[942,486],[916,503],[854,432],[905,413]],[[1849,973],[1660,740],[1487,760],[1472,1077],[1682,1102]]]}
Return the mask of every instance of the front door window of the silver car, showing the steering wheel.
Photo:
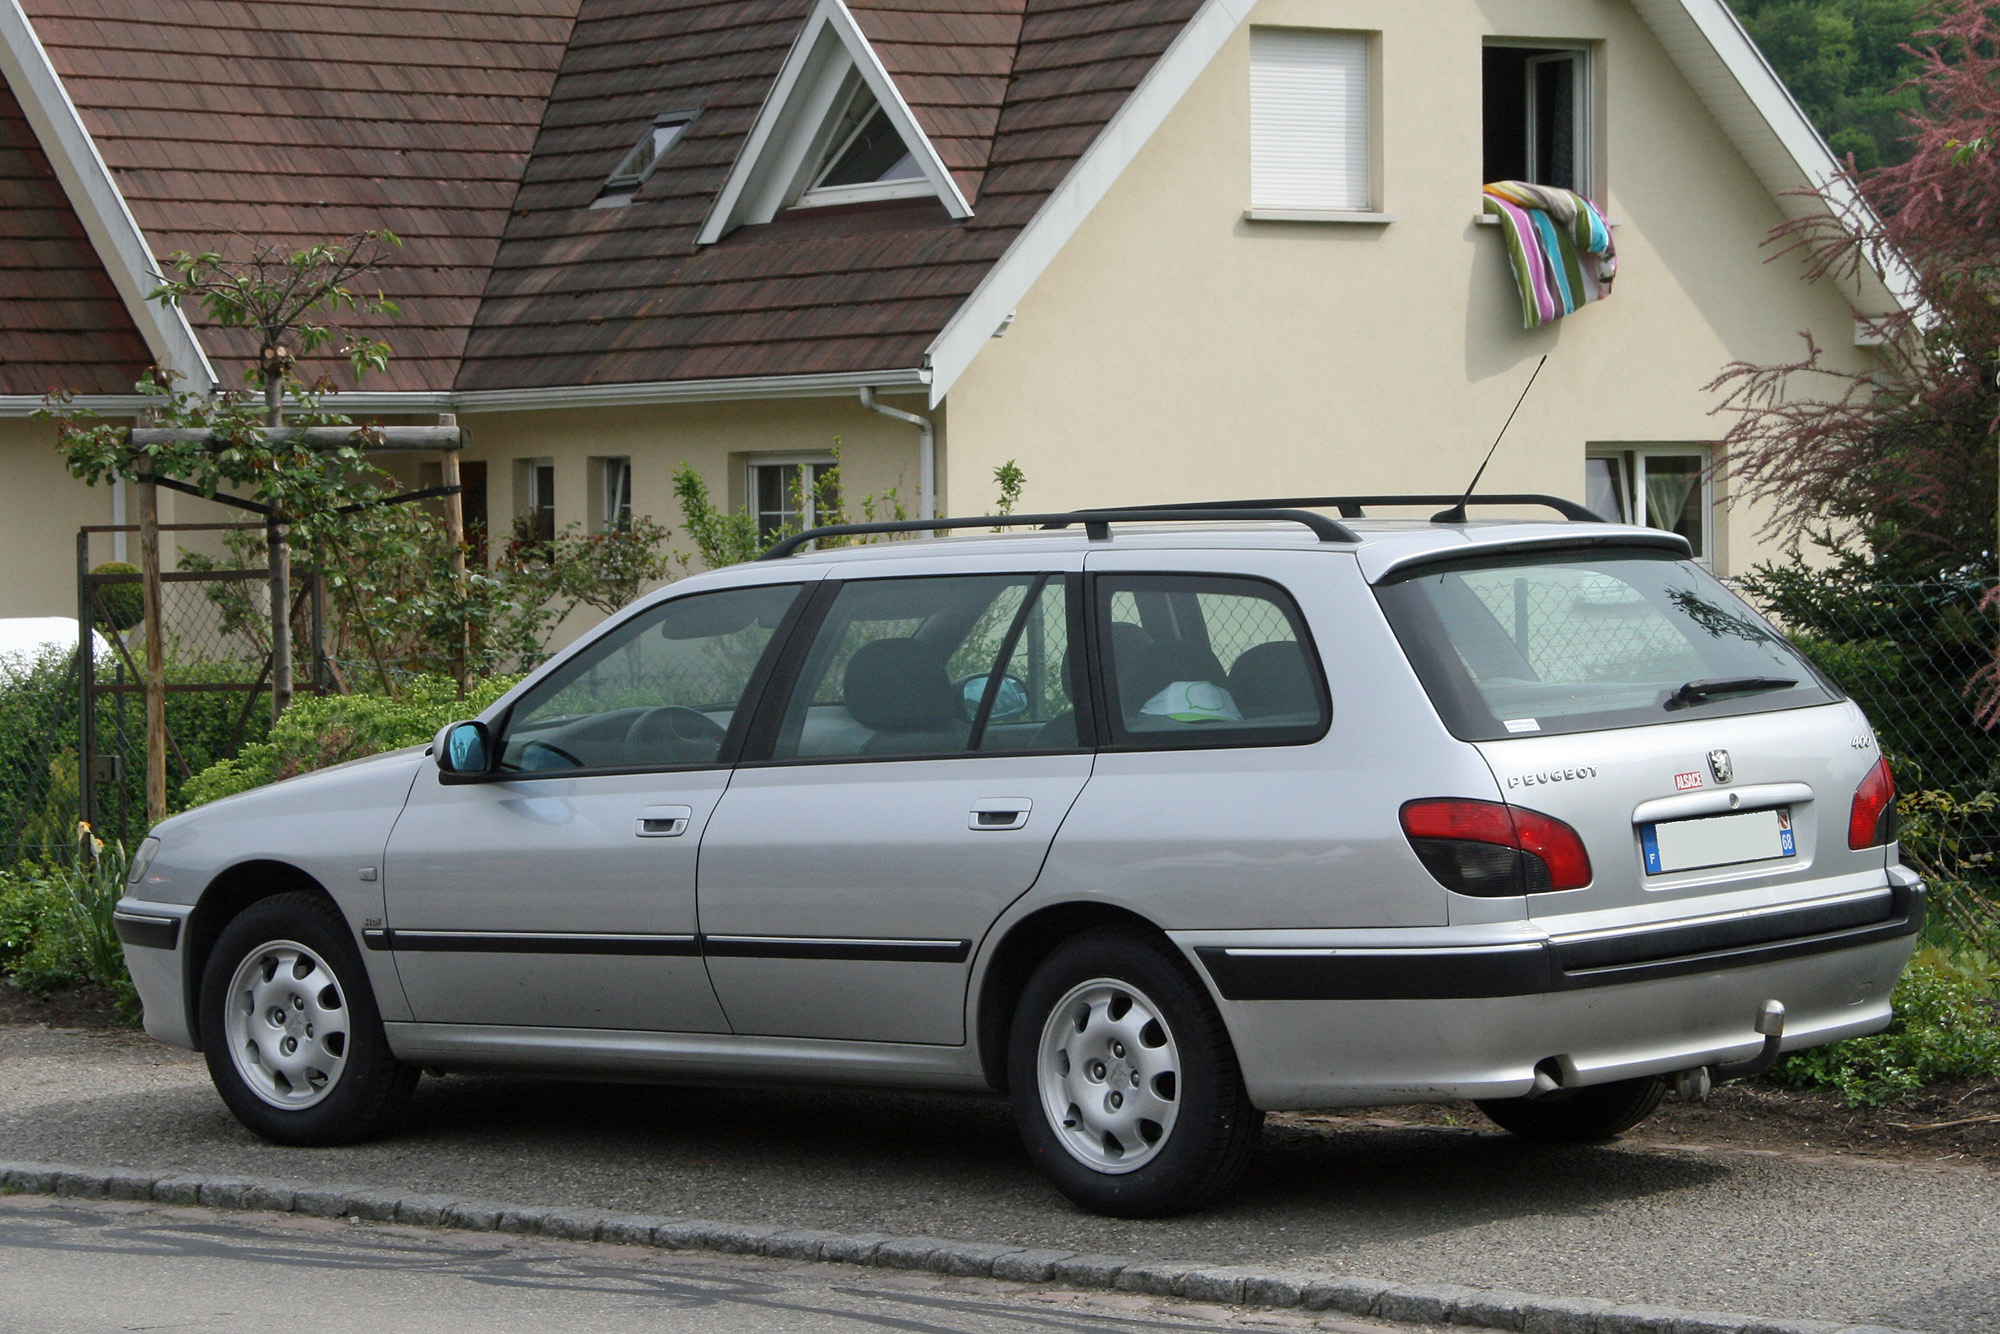
{"label": "front door window of the silver car, showing the steering wheel", "polygon": [[610,630],[508,714],[500,772],[716,764],[798,584],[674,598]]}

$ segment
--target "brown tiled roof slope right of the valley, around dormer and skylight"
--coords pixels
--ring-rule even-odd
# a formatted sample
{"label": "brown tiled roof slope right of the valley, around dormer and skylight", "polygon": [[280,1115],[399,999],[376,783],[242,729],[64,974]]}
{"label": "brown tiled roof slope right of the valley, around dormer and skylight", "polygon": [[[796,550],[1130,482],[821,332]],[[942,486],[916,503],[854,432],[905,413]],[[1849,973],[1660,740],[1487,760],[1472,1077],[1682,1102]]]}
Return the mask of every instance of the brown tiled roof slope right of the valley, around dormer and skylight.
{"label": "brown tiled roof slope right of the valley, around dormer and skylight", "polygon": [[[584,0],[460,388],[890,370],[924,348],[1200,0],[862,0],[976,212],[796,210],[694,236],[808,0]],[[890,6],[904,8],[890,8]],[[1016,22],[1012,52],[1002,38]],[[958,60],[962,70],[946,66]],[[1004,90],[996,84],[1004,78]],[[588,208],[664,110],[702,118],[626,208]],[[990,140],[976,130],[990,124]],[[948,132],[948,134],[946,134]],[[988,146],[990,144],[990,146]]]}

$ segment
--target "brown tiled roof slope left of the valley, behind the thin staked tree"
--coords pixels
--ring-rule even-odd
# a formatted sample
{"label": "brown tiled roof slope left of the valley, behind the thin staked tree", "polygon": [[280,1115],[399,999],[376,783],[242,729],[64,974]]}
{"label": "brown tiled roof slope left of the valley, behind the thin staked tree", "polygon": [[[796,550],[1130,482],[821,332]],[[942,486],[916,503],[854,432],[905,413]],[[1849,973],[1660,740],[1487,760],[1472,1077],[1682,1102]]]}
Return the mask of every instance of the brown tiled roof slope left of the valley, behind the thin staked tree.
{"label": "brown tiled roof slope left of the valley, behind the thin staked tree", "polygon": [[[26,0],[158,256],[388,228],[372,390],[452,386],[576,0]],[[234,382],[254,340],[204,326]],[[344,362],[326,370],[346,382]]]}

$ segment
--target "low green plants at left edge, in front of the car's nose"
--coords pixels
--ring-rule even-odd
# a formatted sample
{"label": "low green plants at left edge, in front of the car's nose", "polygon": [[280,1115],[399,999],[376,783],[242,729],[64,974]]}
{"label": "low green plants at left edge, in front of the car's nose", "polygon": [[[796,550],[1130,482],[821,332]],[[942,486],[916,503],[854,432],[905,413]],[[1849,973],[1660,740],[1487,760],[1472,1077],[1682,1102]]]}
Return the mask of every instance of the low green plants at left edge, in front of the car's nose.
{"label": "low green plants at left edge, in front of the car's nose", "polygon": [[0,872],[0,970],[28,992],[96,982],[136,1020],[138,992],[112,928],[130,860],[114,844],[90,842],[72,864]]}

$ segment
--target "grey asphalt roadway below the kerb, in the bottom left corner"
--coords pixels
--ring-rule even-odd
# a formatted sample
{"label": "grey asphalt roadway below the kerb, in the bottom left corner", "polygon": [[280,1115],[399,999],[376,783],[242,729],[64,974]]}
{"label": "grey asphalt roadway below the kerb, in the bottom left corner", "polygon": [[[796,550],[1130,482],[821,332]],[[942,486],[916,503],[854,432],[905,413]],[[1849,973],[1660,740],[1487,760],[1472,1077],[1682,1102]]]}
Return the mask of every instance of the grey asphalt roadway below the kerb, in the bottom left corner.
{"label": "grey asphalt roadway below the kerb, in the bottom left corner", "polygon": [[[1238,1312],[1240,1316],[1242,1312]],[[1394,1334],[1394,1326],[1296,1318]],[[0,1202],[0,1328],[36,1334],[1222,1334],[1230,1312],[830,1264]]]}

